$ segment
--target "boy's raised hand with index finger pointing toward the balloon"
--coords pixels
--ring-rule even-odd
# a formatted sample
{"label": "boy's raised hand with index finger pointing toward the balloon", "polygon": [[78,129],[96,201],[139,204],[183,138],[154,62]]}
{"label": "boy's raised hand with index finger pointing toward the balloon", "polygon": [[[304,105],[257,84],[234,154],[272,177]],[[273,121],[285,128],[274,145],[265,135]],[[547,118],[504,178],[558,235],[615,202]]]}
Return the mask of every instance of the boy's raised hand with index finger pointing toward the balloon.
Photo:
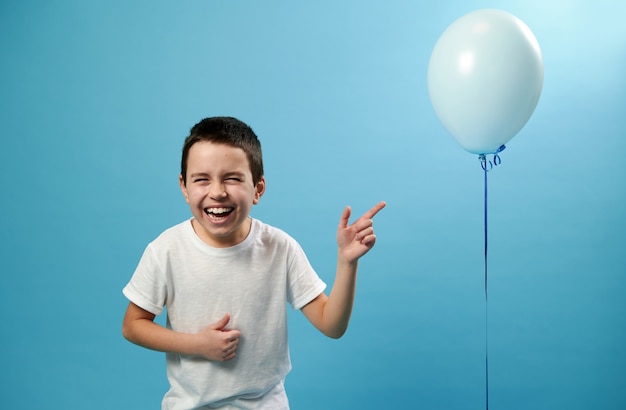
{"label": "boy's raised hand with index finger pointing toward the balloon", "polygon": [[377,203],[351,225],[348,225],[348,220],[352,214],[352,209],[346,206],[337,229],[337,245],[339,246],[340,258],[349,263],[354,263],[372,249],[376,243],[372,219],[385,205],[387,204],[384,201]]}

